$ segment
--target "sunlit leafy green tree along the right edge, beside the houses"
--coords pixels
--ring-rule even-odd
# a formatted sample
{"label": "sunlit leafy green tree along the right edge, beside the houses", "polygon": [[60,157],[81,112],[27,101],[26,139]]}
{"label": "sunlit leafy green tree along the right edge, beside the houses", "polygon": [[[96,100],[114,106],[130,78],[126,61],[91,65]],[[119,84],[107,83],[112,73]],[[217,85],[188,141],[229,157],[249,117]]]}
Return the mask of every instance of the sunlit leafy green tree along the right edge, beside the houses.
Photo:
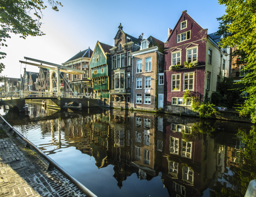
{"label": "sunlit leafy green tree along the right edge, beside the houses", "polygon": [[218,18],[219,35],[224,35],[221,47],[237,46],[233,55],[241,57],[240,64],[246,76],[241,79],[241,89],[246,101],[239,108],[240,116],[250,116],[256,123],[256,0],[219,0],[226,6],[226,14]]}

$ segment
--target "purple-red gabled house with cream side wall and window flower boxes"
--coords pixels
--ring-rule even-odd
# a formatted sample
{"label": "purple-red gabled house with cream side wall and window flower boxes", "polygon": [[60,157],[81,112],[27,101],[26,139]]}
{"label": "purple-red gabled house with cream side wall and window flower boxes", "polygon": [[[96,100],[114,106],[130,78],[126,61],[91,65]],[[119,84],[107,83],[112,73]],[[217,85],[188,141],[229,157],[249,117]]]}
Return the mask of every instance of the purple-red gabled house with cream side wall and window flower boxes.
{"label": "purple-red gabled house with cream side wall and window flower boxes", "polygon": [[165,47],[165,110],[193,114],[192,99],[183,100],[186,90],[200,100],[211,100],[221,77],[229,77],[230,50],[219,48],[187,13],[182,12]]}

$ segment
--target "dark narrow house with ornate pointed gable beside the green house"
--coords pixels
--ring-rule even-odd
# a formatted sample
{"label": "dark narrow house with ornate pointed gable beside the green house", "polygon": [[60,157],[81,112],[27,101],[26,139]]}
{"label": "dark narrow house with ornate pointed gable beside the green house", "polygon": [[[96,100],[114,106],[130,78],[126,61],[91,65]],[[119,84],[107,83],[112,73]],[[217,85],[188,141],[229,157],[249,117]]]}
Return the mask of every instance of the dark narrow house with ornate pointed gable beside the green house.
{"label": "dark narrow house with ornate pointed gable beside the green house", "polygon": [[131,54],[140,48],[141,37],[134,38],[123,31],[120,23],[115,35],[115,45],[111,51],[110,106],[114,108],[131,107]]}

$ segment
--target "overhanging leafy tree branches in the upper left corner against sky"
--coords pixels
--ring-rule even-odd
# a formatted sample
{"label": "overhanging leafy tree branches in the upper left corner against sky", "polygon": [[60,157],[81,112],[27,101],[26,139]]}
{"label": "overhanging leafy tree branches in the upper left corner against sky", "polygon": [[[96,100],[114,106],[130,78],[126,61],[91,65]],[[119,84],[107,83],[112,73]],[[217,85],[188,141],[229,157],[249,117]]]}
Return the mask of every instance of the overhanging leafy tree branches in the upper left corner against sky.
{"label": "overhanging leafy tree branches in the upper left corner against sky", "polygon": [[[58,11],[61,2],[48,0],[49,5],[54,11]],[[26,39],[28,35],[41,36],[45,35],[40,31],[42,19],[42,10],[47,6],[43,0],[0,0],[0,48],[7,47],[6,38],[11,38],[10,33],[18,34],[21,38]],[[33,19],[30,15],[33,12]],[[0,51],[0,59],[6,57],[6,53]],[[0,63],[0,73],[5,65]],[[0,81],[4,77],[0,76]]]}

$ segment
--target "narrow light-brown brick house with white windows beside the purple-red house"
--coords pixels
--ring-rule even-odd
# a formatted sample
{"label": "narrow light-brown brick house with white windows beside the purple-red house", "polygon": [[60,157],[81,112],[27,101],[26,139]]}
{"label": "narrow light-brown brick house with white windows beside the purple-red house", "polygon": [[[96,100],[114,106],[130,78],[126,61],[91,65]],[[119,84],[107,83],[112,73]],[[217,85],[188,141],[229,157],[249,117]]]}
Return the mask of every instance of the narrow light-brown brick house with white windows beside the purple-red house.
{"label": "narrow light-brown brick house with white windows beside the purple-red house", "polygon": [[163,108],[163,46],[162,41],[150,36],[141,41],[140,50],[132,53],[134,109]]}

